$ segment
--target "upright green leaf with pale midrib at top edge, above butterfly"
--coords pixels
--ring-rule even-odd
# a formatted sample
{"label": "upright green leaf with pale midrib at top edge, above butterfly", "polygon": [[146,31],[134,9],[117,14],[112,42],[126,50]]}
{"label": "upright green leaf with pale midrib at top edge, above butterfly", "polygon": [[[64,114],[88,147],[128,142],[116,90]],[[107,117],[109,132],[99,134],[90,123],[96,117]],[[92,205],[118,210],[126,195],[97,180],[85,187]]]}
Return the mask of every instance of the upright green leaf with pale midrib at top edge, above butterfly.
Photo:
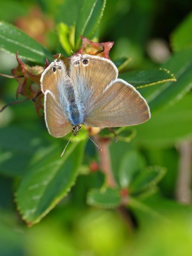
{"label": "upright green leaf with pale midrib at top edge, above butterfly", "polygon": [[92,37],[102,18],[106,0],[84,0],[76,20],[76,49],[81,42],[80,36]]}

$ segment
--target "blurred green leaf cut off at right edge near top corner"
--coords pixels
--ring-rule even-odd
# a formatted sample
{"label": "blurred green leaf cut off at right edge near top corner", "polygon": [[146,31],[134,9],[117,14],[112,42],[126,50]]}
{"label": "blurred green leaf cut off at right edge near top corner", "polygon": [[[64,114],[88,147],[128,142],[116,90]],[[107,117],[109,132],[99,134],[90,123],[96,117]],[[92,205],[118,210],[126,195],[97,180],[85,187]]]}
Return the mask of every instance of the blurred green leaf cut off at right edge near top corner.
{"label": "blurred green leaf cut off at right edge near top corner", "polygon": [[171,45],[173,51],[180,51],[187,48],[192,48],[192,13],[179,24],[178,28],[173,31],[171,36]]}

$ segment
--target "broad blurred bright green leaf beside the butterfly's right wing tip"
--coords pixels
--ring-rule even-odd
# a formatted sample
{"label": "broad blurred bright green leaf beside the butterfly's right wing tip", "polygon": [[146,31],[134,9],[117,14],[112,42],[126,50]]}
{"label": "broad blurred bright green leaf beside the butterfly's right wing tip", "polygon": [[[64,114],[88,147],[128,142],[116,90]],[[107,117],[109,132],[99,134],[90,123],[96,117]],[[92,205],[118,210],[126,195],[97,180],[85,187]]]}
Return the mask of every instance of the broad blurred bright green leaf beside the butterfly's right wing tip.
{"label": "broad blurred bright green leaf beside the butterfly's right wing tip", "polygon": [[147,147],[170,147],[192,138],[192,94],[186,94],[177,104],[152,115],[145,124],[135,127],[136,143]]}

